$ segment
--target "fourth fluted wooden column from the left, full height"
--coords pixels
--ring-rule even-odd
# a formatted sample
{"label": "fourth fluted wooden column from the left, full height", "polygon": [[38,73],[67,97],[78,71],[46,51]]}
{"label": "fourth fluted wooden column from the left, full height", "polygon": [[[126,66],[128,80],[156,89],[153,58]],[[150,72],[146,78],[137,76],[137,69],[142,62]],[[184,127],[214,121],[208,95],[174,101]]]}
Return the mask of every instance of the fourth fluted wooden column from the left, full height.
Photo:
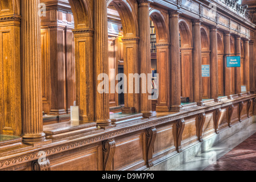
{"label": "fourth fluted wooden column from the left, full height", "polygon": [[179,112],[183,109],[181,106],[181,65],[180,65],[180,42],[179,42],[179,13],[177,11],[169,12],[169,30],[170,30],[170,111]]}

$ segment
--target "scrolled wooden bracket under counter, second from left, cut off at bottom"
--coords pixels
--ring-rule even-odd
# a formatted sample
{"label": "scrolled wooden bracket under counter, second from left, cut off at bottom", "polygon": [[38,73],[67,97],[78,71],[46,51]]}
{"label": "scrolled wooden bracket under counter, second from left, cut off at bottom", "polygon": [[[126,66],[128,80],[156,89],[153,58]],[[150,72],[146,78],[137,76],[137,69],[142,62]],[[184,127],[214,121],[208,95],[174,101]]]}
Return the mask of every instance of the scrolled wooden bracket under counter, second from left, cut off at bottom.
{"label": "scrolled wooden bracket under counter, second from left, cut off at bottom", "polygon": [[115,154],[115,140],[109,139],[103,142],[104,171],[113,171],[113,158]]}

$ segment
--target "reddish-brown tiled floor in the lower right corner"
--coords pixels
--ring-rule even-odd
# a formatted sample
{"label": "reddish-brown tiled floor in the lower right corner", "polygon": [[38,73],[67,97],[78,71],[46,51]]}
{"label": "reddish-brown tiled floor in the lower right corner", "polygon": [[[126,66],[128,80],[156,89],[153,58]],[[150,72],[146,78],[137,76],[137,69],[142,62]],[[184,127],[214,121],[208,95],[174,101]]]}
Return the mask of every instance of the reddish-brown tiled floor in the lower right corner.
{"label": "reddish-brown tiled floor in the lower right corner", "polygon": [[256,133],[204,171],[256,171]]}

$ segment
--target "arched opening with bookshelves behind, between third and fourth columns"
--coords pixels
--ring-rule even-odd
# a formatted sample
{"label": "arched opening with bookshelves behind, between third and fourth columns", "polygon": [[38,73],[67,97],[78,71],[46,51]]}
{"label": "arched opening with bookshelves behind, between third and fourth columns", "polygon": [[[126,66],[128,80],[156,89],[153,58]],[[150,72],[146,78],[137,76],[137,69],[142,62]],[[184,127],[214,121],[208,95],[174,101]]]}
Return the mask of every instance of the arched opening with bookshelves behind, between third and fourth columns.
{"label": "arched opening with bookshelves behind, between third and fourth columns", "polygon": [[[168,36],[168,15],[162,11],[151,8],[151,69],[157,72],[159,77],[152,76],[153,88],[158,92],[156,106],[152,101],[152,110],[169,111],[170,109],[170,49]],[[155,29],[155,31],[154,31]],[[152,40],[153,39],[153,40]],[[158,80],[157,80],[158,79]],[[158,88],[155,86],[158,82]]]}

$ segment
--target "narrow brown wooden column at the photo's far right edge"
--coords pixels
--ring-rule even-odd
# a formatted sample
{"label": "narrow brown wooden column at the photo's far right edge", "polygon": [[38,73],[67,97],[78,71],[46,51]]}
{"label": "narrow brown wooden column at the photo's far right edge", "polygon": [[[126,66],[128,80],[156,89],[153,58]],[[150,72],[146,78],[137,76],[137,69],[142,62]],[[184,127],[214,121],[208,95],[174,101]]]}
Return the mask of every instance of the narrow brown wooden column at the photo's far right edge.
{"label": "narrow brown wooden column at the photo's far right edge", "polygon": [[249,56],[250,56],[250,93],[254,93],[254,90],[255,90],[255,78],[254,78],[254,50],[253,50],[253,47],[254,47],[254,41],[250,40],[249,42]]}

